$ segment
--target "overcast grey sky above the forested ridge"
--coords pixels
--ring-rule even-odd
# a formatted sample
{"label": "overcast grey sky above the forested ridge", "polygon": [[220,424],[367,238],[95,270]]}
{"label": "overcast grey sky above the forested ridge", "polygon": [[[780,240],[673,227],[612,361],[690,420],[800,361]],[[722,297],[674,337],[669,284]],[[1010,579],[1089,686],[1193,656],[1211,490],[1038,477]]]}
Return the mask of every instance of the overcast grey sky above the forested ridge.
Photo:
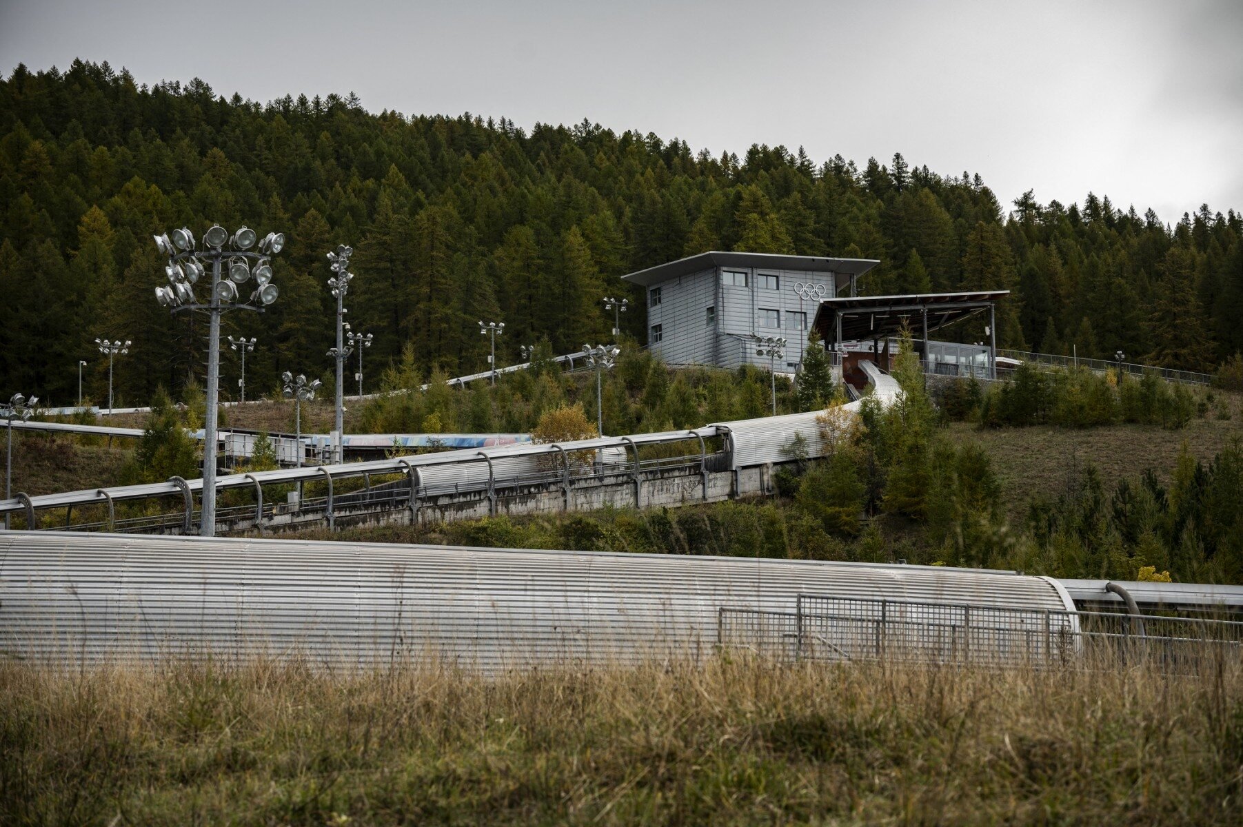
{"label": "overcast grey sky above the forested ridge", "polygon": [[[209,22],[235,35],[209,46]],[[0,0],[6,76],[73,57],[262,102],[588,118],[715,155],[901,151],[979,173],[1004,206],[1034,189],[1167,221],[1243,209],[1243,0]]]}

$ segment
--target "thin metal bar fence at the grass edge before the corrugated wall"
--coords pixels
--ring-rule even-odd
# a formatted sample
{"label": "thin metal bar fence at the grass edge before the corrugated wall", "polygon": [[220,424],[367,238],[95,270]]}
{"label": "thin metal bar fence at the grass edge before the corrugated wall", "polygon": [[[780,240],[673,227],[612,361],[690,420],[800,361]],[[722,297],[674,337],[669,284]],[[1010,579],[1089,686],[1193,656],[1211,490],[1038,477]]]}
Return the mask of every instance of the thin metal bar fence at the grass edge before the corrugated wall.
{"label": "thin metal bar fence at the grass edge before the corrugated wall", "polygon": [[794,611],[723,606],[717,642],[777,659],[993,667],[1243,658],[1243,622],[796,595]]}

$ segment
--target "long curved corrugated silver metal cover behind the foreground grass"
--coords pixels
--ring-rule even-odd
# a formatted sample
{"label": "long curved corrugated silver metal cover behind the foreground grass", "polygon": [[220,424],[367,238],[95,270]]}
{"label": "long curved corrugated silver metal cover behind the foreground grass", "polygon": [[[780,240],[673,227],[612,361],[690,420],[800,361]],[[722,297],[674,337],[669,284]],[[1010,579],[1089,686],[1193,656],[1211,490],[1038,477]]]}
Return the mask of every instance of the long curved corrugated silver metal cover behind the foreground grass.
{"label": "long curved corrugated silver metal cover behind the foreground grass", "polygon": [[1073,610],[1012,572],[805,560],[116,534],[0,534],[0,647],[101,662],[301,656],[500,669],[701,657],[720,611],[799,594]]}

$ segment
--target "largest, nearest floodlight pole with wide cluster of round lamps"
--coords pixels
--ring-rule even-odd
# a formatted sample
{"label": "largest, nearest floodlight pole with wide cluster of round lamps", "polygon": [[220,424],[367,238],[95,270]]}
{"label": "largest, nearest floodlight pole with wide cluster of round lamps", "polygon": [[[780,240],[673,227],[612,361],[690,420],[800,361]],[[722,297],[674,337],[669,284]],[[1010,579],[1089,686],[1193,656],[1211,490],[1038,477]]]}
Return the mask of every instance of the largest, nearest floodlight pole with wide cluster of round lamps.
{"label": "largest, nearest floodlight pole with wide cluster of round lamps", "polygon": [[[172,236],[172,237],[169,237]],[[256,247],[257,245],[257,247]],[[219,224],[203,233],[203,250],[196,250],[194,233],[186,227],[155,236],[155,247],[168,256],[164,274],[168,287],[155,288],[155,301],[173,313],[199,310],[208,314],[208,412],[203,422],[203,517],[199,534],[216,533],[216,410],[220,405],[220,314],[241,309],[262,313],[280,291],[272,284],[271,257],[285,247],[285,236],[270,232],[262,238],[250,227],[232,236]],[[225,246],[231,250],[225,250]],[[251,247],[256,247],[255,251]],[[194,296],[194,284],[208,274],[208,302]],[[249,299],[239,289],[254,277],[256,287]],[[111,407],[112,404],[109,402]]]}

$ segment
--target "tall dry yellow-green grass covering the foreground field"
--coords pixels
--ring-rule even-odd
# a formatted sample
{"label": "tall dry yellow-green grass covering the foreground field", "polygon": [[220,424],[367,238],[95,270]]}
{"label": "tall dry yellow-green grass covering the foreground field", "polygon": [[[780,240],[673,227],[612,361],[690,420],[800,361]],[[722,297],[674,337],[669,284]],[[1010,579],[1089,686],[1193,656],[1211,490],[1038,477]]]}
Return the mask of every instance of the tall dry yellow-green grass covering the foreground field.
{"label": "tall dry yellow-green grass covering the foreground field", "polygon": [[1239,823],[1236,667],[0,667],[0,823]]}

